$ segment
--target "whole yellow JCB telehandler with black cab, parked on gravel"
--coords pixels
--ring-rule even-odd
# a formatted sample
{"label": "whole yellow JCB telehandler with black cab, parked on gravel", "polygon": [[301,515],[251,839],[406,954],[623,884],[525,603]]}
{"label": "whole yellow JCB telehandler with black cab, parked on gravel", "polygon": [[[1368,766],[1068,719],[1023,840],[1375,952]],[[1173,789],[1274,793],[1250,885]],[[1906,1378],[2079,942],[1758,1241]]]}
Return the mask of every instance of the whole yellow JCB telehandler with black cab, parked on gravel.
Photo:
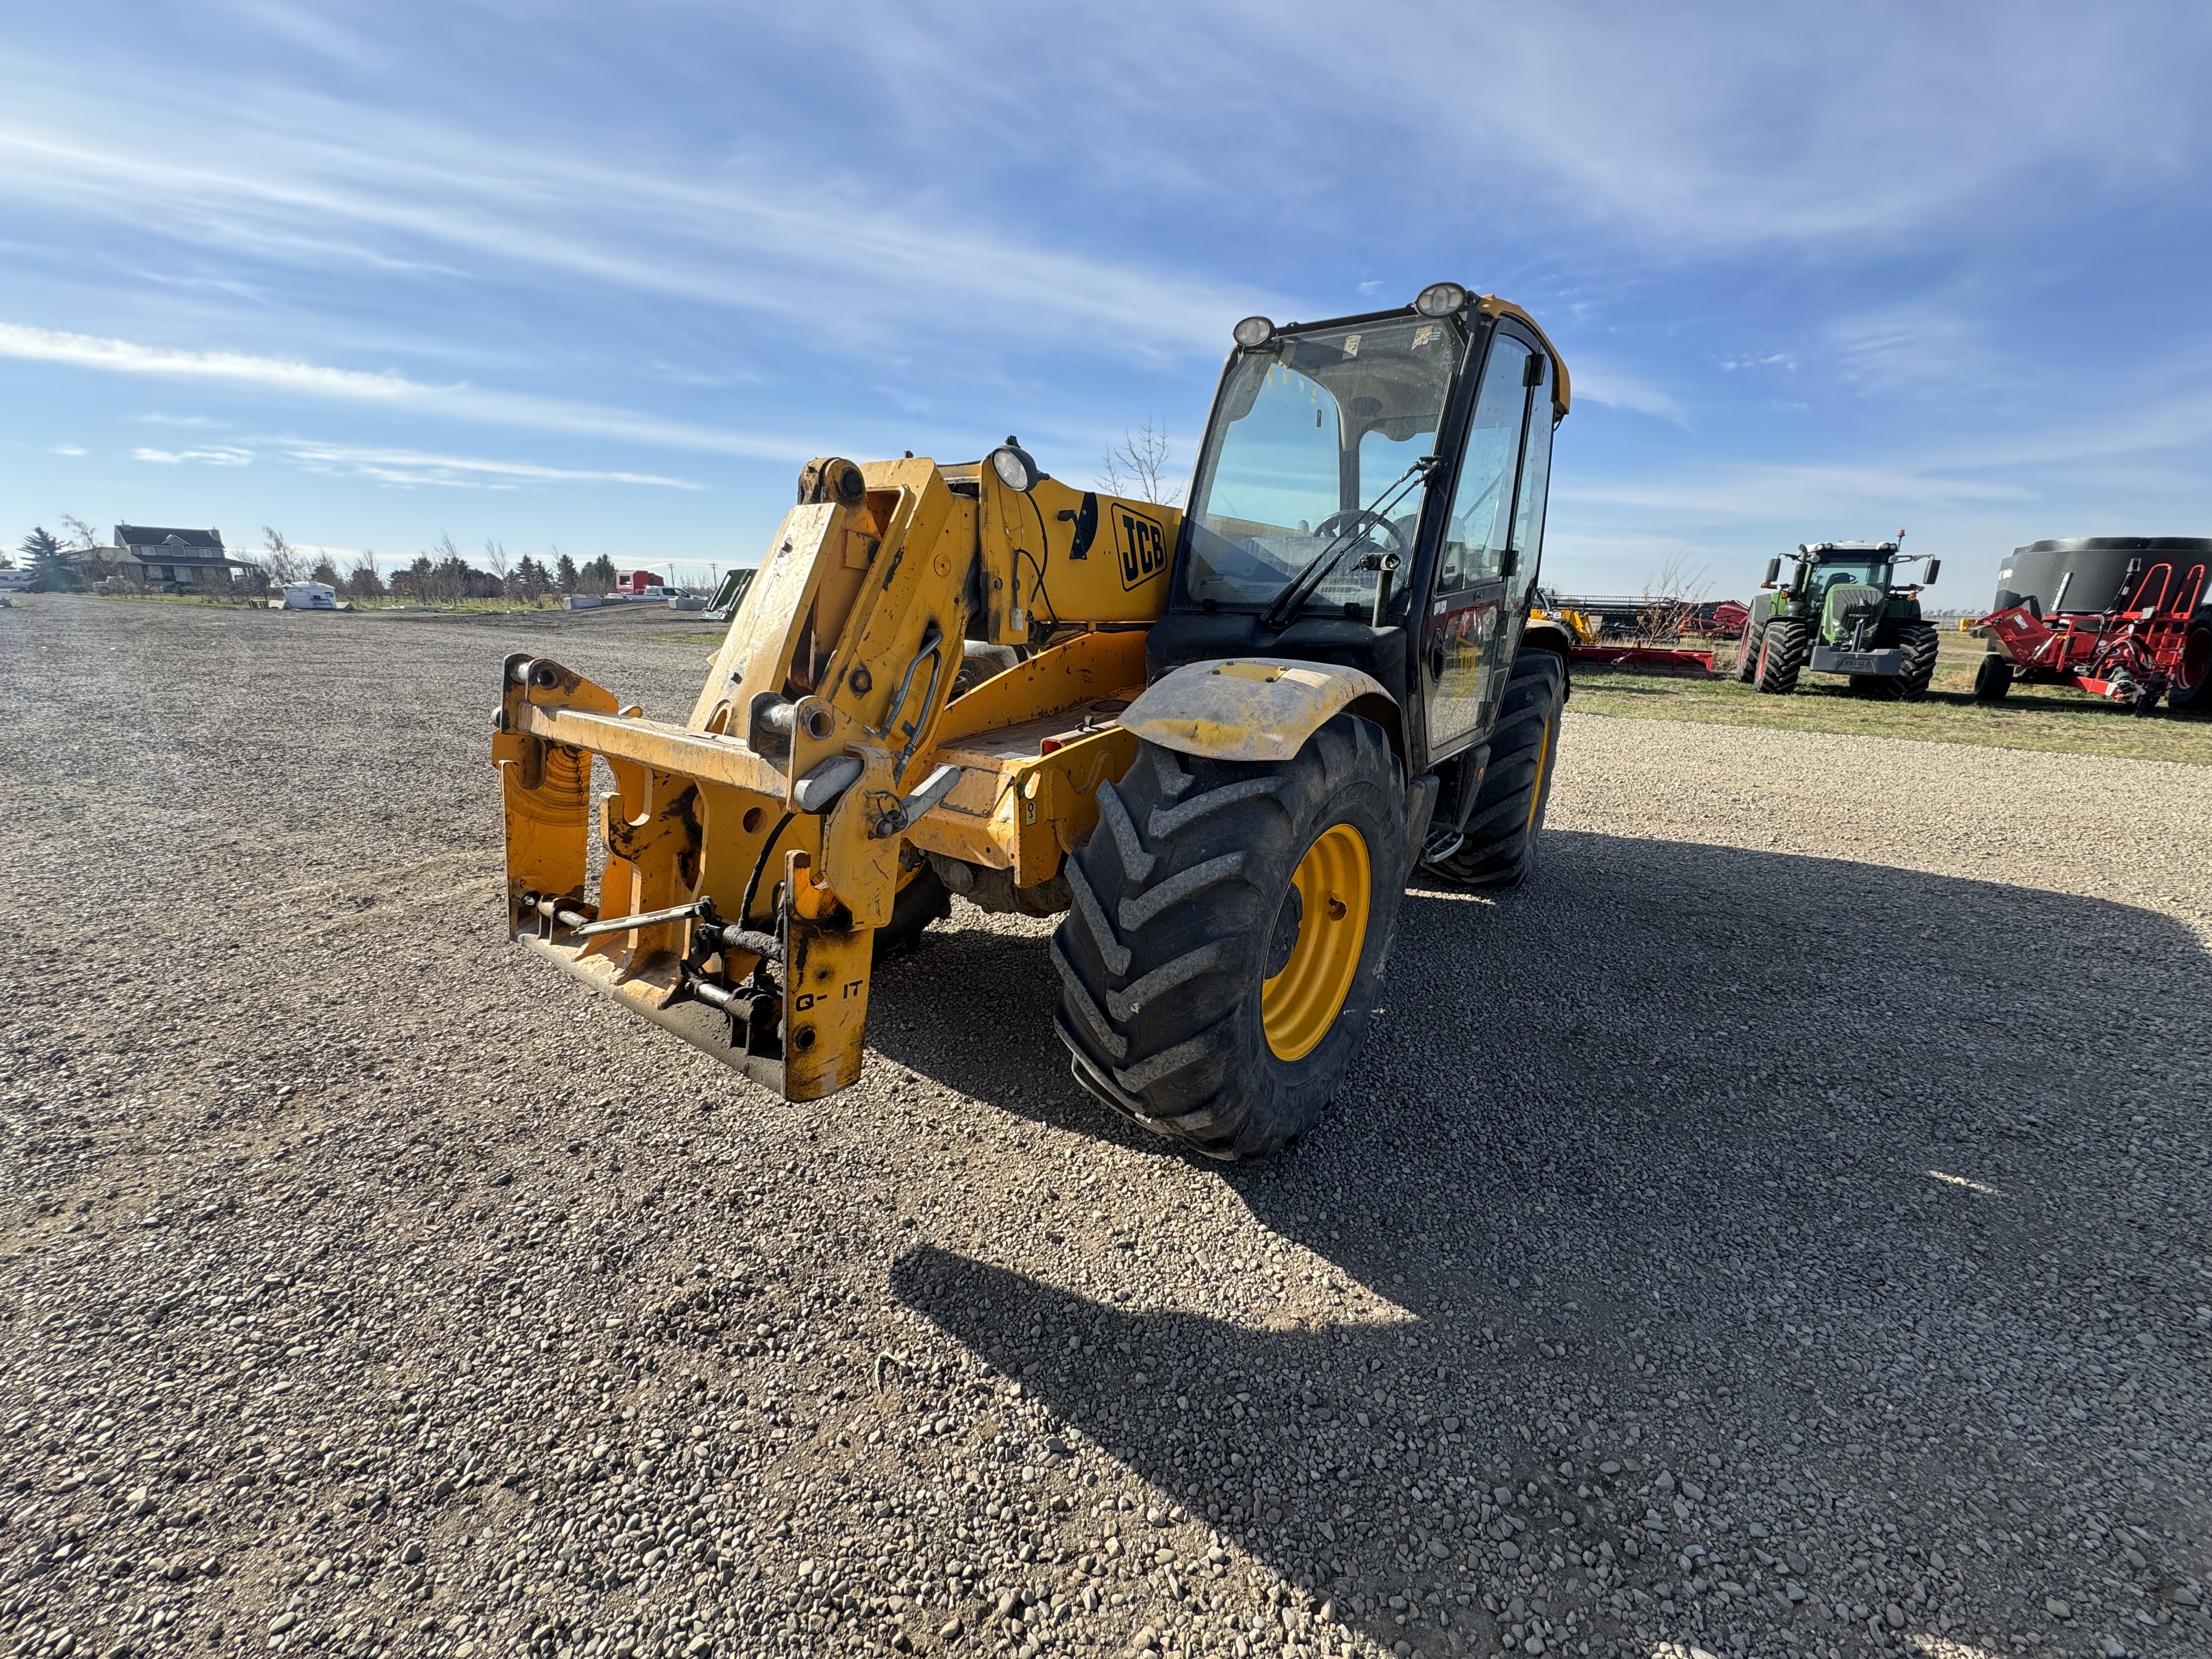
{"label": "whole yellow JCB telehandler with black cab, parked on gravel", "polygon": [[1201,1152],[1267,1152],[1358,1051],[1411,872],[1531,867],[1568,692],[1566,630],[1528,622],[1566,409],[1526,312],[1436,283],[1241,321],[1188,511],[1062,484],[1013,438],[810,462],[681,723],[507,659],[513,936],[821,1099],[860,1075],[874,958],[949,894],[1064,911],[1075,1077]]}

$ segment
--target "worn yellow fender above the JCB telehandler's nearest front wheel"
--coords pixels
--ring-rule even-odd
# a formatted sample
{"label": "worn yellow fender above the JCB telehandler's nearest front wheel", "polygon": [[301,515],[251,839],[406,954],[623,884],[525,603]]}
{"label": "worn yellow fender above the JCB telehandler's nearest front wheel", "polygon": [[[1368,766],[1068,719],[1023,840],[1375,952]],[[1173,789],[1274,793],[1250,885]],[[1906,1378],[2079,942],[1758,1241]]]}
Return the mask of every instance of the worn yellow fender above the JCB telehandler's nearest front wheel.
{"label": "worn yellow fender above the JCB telehandler's nearest front wheel", "polygon": [[1396,723],[1396,699],[1358,668],[1221,657],[1168,670],[1121,712],[1121,730],[1212,761],[1287,761],[1354,703],[1385,728]]}

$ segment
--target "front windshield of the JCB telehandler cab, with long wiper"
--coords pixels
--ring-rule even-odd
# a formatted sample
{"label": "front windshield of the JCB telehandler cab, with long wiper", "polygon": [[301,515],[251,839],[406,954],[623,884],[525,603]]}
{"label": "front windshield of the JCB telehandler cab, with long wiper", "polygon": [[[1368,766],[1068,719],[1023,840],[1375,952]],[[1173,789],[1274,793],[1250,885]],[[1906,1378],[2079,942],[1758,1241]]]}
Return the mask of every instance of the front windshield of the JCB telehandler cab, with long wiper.
{"label": "front windshield of the JCB telehandler cab, with long wiper", "polygon": [[[1449,323],[1405,319],[1318,330],[1245,352],[1230,369],[1223,422],[1192,480],[1186,597],[1267,604],[1358,513],[1436,449],[1460,361]],[[1413,557],[1420,487],[1371,540]],[[1338,568],[1307,611],[1365,613],[1374,571]]]}

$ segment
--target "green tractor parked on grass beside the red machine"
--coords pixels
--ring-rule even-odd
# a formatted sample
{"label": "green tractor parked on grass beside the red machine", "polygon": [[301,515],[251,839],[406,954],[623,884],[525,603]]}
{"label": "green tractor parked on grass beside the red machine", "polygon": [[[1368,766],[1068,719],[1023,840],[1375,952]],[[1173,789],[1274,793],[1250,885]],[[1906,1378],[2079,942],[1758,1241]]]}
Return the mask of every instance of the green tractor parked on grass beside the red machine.
{"label": "green tractor parked on grass beside the red machine", "polygon": [[1763,692],[1796,690],[1798,675],[1849,675],[1860,697],[1920,701],[1936,677],[1936,624],[1920,619],[1920,588],[1942,560],[1929,560],[1918,582],[1898,582],[1896,542],[1805,542],[1796,573],[1767,560],[1767,577],[1743,624],[1736,679]]}

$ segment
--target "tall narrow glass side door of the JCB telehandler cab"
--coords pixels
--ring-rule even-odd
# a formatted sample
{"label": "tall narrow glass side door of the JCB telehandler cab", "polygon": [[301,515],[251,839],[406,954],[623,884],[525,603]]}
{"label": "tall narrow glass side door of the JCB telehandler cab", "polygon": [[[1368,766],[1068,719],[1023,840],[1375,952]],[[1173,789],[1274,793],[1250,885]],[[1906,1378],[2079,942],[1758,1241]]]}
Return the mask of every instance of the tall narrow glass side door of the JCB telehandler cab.
{"label": "tall narrow glass side door of the JCB telehandler cab", "polygon": [[[1544,535],[1551,400],[1537,403],[1537,392],[1548,376],[1546,354],[1528,341],[1504,330],[1491,338],[1422,617],[1431,759],[1467,748],[1486,730],[1513,661]],[[1540,442],[1531,442],[1531,425],[1542,431]],[[1524,480],[1535,482],[1533,493]]]}

